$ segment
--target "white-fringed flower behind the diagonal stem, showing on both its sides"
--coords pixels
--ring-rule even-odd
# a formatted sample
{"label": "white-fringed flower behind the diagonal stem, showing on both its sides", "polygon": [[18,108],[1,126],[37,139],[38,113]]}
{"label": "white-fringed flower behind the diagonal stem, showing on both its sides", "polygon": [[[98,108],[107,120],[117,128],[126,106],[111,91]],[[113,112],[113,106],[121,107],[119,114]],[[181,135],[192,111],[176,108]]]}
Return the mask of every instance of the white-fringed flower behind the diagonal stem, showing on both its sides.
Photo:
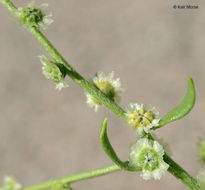
{"label": "white-fringed flower behind the diagonal stem, showing on both its sides", "polygon": [[[120,101],[120,93],[123,91],[123,89],[121,88],[120,78],[114,79],[114,72],[111,72],[108,75],[104,74],[103,72],[99,72],[92,79],[92,81],[93,84],[110,99],[115,102]],[[88,106],[94,108],[97,112],[102,104],[87,92],[85,95],[87,97]]]}

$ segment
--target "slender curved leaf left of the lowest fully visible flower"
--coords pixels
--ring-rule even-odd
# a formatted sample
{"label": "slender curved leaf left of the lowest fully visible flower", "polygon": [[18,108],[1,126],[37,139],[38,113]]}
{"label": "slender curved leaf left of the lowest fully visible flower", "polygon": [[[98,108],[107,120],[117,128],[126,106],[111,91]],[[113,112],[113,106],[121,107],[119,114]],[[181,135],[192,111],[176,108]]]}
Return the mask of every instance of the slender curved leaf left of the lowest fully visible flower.
{"label": "slender curved leaf left of the lowest fully visible flower", "polygon": [[107,119],[105,118],[101,125],[101,131],[100,131],[100,142],[102,144],[103,150],[108,155],[108,157],[120,168],[128,171],[139,171],[141,170],[139,167],[132,168],[128,166],[128,161],[122,162],[117,154],[115,153],[112,145],[110,144],[110,141],[107,137]]}

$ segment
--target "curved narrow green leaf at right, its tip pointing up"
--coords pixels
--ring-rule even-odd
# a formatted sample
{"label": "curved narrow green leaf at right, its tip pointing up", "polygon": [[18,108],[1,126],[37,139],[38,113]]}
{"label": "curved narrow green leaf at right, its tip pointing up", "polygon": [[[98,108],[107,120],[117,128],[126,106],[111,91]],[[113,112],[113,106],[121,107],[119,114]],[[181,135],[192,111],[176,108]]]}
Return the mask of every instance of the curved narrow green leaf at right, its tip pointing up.
{"label": "curved narrow green leaf at right, its tip pointing up", "polygon": [[181,119],[185,115],[187,115],[193,108],[195,103],[195,87],[194,87],[194,81],[192,78],[188,78],[188,87],[186,95],[184,96],[184,99],[182,100],[181,104],[179,104],[177,107],[172,109],[170,112],[168,112],[159,122],[159,126],[153,128],[159,128],[163,125],[166,125],[170,122],[176,121],[178,119]]}

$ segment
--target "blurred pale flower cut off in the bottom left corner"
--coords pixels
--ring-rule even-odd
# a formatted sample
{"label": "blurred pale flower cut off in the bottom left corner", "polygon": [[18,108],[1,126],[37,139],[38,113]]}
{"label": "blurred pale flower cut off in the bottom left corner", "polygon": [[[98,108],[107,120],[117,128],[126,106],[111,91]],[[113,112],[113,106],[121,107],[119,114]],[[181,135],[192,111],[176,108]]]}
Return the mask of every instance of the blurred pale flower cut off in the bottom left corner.
{"label": "blurred pale flower cut off in the bottom left corner", "polygon": [[0,190],[20,190],[22,186],[12,177],[6,176]]}

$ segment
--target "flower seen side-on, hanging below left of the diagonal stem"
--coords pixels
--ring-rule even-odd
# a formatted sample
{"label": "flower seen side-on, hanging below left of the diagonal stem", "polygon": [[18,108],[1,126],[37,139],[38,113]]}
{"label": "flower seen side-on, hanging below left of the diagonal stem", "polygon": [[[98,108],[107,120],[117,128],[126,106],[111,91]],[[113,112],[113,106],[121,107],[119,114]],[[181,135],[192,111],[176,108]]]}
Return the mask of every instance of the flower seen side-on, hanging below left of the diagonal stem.
{"label": "flower seen side-on, hanging below left of the diagonal stem", "polygon": [[56,84],[56,89],[61,90],[62,88],[68,87],[68,84],[64,81],[65,76],[62,74],[59,67],[44,55],[39,56],[40,61],[43,65],[42,70],[46,78],[51,79]]}

